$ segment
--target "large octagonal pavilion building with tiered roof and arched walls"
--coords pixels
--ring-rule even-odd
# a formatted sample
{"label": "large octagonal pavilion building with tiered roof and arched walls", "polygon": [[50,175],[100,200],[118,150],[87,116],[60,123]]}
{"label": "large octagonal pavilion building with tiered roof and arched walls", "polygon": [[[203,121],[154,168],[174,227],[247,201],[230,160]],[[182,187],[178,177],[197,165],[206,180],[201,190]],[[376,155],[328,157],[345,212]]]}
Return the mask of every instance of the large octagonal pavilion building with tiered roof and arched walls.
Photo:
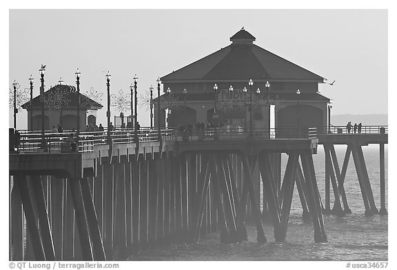
{"label": "large octagonal pavilion building with tiered roof and arched walls", "polygon": [[[248,127],[252,94],[253,128],[316,127],[325,131],[330,100],[318,93],[318,84],[326,79],[258,47],[255,39],[241,29],[227,47],[163,76],[160,125],[165,126],[166,121],[168,126],[217,122]],[[167,117],[166,108],[171,109]],[[156,109],[154,100],[155,125],[159,122]]]}

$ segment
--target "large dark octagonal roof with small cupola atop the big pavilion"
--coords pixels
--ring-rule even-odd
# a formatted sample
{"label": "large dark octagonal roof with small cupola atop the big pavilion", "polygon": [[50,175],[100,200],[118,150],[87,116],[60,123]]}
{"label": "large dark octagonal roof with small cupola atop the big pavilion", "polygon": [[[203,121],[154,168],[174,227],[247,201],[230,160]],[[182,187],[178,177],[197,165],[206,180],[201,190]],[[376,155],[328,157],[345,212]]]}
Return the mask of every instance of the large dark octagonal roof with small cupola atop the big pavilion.
{"label": "large dark octagonal roof with small cupola atop the big pavilion", "polygon": [[257,45],[245,30],[234,34],[232,44],[173,71],[162,81],[178,80],[292,80],[324,82],[324,78]]}

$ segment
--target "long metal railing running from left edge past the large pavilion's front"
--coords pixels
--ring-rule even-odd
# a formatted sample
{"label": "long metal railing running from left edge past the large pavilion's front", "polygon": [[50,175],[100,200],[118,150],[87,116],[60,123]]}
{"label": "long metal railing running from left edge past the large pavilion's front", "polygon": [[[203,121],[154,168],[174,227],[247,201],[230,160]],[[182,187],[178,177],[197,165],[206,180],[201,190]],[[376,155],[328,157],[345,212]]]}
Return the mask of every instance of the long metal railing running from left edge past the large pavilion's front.
{"label": "long metal railing running from left edge past the large pavilion's front", "polygon": [[[316,128],[255,128],[250,130],[241,127],[205,128],[204,130],[185,130],[181,128],[161,129],[161,140],[188,142],[213,140],[245,140],[245,139],[314,139]],[[136,142],[159,142],[156,128],[119,129],[110,132],[112,144]],[[70,153],[92,152],[95,145],[108,144],[107,131],[81,132],[77,138],[76,131],[54,133],[46,131],[18,131],[10,129],[10,152],[17,153]]]}

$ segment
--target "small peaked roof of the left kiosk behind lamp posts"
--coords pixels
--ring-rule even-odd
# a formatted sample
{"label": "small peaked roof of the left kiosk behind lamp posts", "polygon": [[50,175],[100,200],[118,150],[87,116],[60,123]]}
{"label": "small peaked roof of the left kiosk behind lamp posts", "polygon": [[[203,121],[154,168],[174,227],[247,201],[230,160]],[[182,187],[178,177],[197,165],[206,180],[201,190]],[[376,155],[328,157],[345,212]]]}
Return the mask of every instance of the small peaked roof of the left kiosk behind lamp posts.
{"label": "small peaked roof of the left kiosk behind lamp posts", "polygon": [[[80,95],[80,108],[81,109],[101,109],[103,106],[98,102],[88,98],[87,96],[77,93],[76,87],[72,85],[55,85],[44,92],[44,99],[48,100],[46,104],[58,104],[62,108],[77,109]],[[45,106],[48,109],[48,106]],[[23,104],[22,109],[37,109],[41,107],[40,95]]]}

